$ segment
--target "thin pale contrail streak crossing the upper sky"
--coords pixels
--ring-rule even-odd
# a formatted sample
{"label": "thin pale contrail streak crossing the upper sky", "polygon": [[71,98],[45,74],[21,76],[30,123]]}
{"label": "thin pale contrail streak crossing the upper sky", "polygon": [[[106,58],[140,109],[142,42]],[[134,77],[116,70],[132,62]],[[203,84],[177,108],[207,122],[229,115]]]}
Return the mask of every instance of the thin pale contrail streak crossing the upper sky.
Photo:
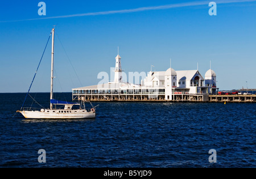
{"label": "thin pale contrail streak crossing the upper sky", "polygon": [[[214,0],[212,0],[212,1],[214,1]],[[242,2],[255,2],[255,1],[256,0],[226,0],[226,1],[225,0],[216,0],[214,2],[216,2],[217,4],[228,4],[228,3],[242,3]],[[29,20],[42,20],[42,19],[73,18],[73,17],[81,17],[81,16],[96,16],[96,15],[108,15],[108,14],[124,14],[124,13],[142,12],[142,11],[150,11],[150,10],[163,10],[163,9],[170,9],[170,8],[179,8],[179,7],[202,6],[202,5],[209,5],[209,2],[210,1],[176,3],[176,4],[163,5],[163,6],[139,7],[139,8],[131,8],[131,9],[125,9],[125,10],[114,10],[114,11],[88,12],[88,13],[84,13],[84,14],[61,15],[61,16],[52,16],[52,17],[37,18],[37,19],[0,21],[0,23],[22,22],[22,21],[29,21]]]}

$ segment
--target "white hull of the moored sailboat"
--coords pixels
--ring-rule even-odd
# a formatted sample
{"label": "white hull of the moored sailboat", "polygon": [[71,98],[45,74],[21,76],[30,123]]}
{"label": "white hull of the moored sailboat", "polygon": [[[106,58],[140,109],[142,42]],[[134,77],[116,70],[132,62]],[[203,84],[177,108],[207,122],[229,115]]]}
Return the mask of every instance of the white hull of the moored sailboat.
{"label": "white hull of the moored sailboat", "polygon": [[86,110],[63,110],[63,109],[46,109],[42,111],[22,110],[18,111],[27,119],[86,119],[96,118],[96,112],[87,112]]}

